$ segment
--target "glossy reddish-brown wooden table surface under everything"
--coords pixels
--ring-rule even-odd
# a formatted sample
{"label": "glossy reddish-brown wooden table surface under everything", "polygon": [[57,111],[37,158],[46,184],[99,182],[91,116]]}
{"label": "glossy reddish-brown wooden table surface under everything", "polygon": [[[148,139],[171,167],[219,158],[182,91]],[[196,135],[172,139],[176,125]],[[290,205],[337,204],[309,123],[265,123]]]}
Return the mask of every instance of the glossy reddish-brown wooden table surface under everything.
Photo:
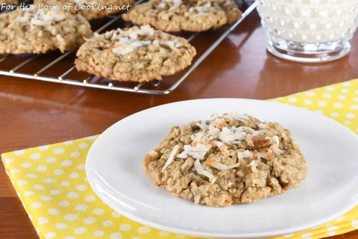
{"label": "glossy reddish-brown wooden table surface under everything", "polygon": [[[207,47],[210,34],[193,43],[199,52]],[[265,39],[255,12],[169,95],[0,76],[0,153],[100,134],[130,114],[169,102],[214,97],[265,100],[358,78],[358,34],[348,57],[322,64],[276,58],[266,52]],[[38,238],[1,163],[0,238]],[[332,238],[358,238],[358,231]]]}

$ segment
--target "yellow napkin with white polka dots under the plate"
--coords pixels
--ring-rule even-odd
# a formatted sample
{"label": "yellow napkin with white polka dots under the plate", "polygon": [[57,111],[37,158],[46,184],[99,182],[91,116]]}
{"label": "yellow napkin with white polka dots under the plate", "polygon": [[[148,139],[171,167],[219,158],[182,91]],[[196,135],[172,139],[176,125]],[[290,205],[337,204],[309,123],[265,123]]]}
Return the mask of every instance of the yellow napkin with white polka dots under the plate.
{"label": "yellow napkin with white polka dots under the plate", "polygon": [[[358,79],[271,101],[306,107],[358,133]],[[87,182],[84,163],[96,138],[2,155],[6,172],[40,238],[192,239],[131,221],[95,195]],[[330,223],[275,239],[317,239],[355,229],[358,205]]]}

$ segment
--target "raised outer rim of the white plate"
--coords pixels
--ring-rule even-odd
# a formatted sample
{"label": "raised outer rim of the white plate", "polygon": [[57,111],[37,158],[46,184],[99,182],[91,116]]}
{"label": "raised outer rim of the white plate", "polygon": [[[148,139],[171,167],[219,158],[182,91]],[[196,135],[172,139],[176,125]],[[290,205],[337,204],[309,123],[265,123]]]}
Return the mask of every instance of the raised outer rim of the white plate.
{"label": "raised outer rim of the white plate", "polygon": [[149,107],[147,109],[138,111],[134,114],[128,115],[125,118],[118,120],[116,123],[112,124],[111,126],[109,126],[105,131],[103,131],[98,138],[95,140],[95,142],[93,142],[93,144],[91,145],[91,147],[88,150],[87,156],[86,156],[86,163],[85,163],[85,168],[86,168],[86,176],[88,178],[88,183],[91,186],[92,190],[96,193],[96,195],[99,197],[99,199],[101,199],[107,206],[111,207],[111,209],[120,212],[122,215],[124,215],[126,218],[129,218],[131,220],[136,221],[137,223],[141,223],[143,225],[146,226],[150,226],[159,230],[164,230],[164,231],[168,231],[170,233],[175,233],[175,234],[183,234],[183,235],[188,235],[188,236],[194,236],[194,237],[199,237],[199,238],[240,238],[240,239],[244,239],[244,238],[262,238],[262,237],[270,237],[270,236],[280,236],[280,235],[286,235],[286,234],[291,234],[291,233],[297,233],[300,231],[305,231],[308,229],[312,229],[315,228],[316,226],[320,226],[323,225],[325,223],[328,223],[329,221],[334,220],[335,218],[342,216],[343,214],[345,214],[346,212],[350,211],[353,207],[355,207],[358,204],[358,199],[356,199],[356,201],[352,200],[350,204],[346,204],[344,207],[342,207],[341,210],[337,211],[335,214],[332,214],[329,217],[326,217],[324,219],[318,220],[315,223],[311,223],[311,224],[306,224],[306,225],[302,225],[302,226],[292,226],[289,229],[281,229],[281,230],[272,230],[272,231],[268,231],[268,232],[260,232],[260,233],[245,233],[245,234],[220,234],[220,233],[206,233],[206,232],[198,232],[198,231],[191,231],[191,230],[183,230],[183,229],[176,229],[176,228],[172,228],[169,226],[164,226],[161,224],[157,224],[157,223],[153,223],[151,221],[147,221],[141,218],[138,218],[130,213],[127,212],[123,212],[120,210],[116,209],[116,206],[108,201],[107,199],[105,199],[104,197],[101,196],[100,191],[94,187],[92,180],[90,179],[90,177],[88,177],[89,175],[89,166],[87,164],[87,160],[88,160],[88,156],[90,155],[91,151],[93,150],[93,145],[96,145],[97,140],[101,140],[101,138],[105,137],[103,136],[106,132],[110,131],[112,127],[114,127],[114,125],[118,124],[120,121],[142,113],[144,111],[147,110],[151,110],[153,108],[159,108],[159,107],[163,107],[166,105],[170,105],[170,104],[176,104],[176,103],[183,103],[183,102],[189,102],[189,101],[205,101],[205,100],[243,100],[243,101],[256,101],[256,102],[265,102],[267,104],[282,104],[285,105],[285,107],[293,107],[296,108],[296,110],[300,110],[300,111],[309,111],[309,114],[314,114],[317,117],[324,117],[326,120],[330,120],[332,121],[332,123],[339,125],[339,127],[341,127],[342,129],[344,129],[347,133],[349,132],[350,134],[354,135],[355,137],[358,137],[352,130],[350,130],[349,128],[347,128],[345,125],[339,123],[338,121],[329,118],[327,116],[324,115],[318,115],[316,113],[314,113],[311,110],[308,109],[304,109],[298,106],[294,106],[294,105],[290,105],[290,104],[284,104],[284,103],[280,103],[280,102],[271,102],[268,100],[257,100],[257,99],[245,99],[245,98],[205,98],[205,99],[192,99],[192,100],[182,100],[182,101],[174,101],[174,102],[170,102],[170,103],[166,103],[166,104],[161,104],[161,105],[157,105],[157,106],[153,106],[153,107]]}

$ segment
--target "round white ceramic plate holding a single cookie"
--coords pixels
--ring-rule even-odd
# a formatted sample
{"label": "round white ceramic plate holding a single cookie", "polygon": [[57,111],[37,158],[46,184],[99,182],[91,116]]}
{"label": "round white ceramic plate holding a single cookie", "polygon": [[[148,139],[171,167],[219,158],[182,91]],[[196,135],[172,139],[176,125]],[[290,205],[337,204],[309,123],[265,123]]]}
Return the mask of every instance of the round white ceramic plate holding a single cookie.
{"label": "round white ceramic plate holding a single cookie", "polygon": [[[169,128],[212,113],[236,110],[291,130],[309,172],[299,188],[225,208],[195,205],[153,185],[142,157]],[[348,128],[306,109],[247,99],[203,99],[161,105],[112,125],[92,145],[88,181],[114,210],[165,231],[207,238],[257,238],[324,224],[358,203],[358,137]]]}

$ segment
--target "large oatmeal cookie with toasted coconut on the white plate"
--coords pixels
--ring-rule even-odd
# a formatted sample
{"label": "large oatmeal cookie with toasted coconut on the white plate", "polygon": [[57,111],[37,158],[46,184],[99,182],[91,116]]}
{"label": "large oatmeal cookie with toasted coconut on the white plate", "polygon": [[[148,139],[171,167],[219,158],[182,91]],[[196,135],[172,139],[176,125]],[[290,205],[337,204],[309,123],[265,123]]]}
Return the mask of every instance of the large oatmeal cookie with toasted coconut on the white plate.
{"label": "large oatmeal cookie with toasted coconut on the white plate", "polygon": [[143,166],[156,186],[209,206],[279,195],[308,171],[289,130],[236,112],[172,127]]}

